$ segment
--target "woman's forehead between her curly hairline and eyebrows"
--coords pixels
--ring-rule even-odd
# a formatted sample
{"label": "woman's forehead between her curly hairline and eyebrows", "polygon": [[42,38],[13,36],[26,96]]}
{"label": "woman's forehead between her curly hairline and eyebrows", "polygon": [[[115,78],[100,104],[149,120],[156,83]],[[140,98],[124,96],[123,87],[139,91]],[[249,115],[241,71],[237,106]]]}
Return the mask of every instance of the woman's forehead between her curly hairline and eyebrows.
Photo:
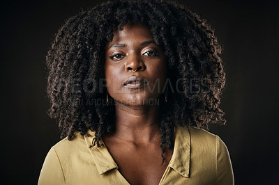
{"label": "woman's forehead between her curly hairline and eyebrows", "polygon": [[119,42],[121,40],[153,40],[153,35],[149,28],[144,24],[128,22],[123,26],[123,30],[116,30],[113,32],[114,37],[112,42]]}

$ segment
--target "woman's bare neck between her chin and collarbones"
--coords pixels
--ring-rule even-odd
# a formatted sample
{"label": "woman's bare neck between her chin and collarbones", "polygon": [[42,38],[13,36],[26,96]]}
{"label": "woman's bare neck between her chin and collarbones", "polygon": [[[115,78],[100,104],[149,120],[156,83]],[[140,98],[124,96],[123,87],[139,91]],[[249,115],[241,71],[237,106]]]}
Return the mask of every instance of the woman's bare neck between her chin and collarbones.
{"label": "woman's bare neck between her chin and collarbones", "polygon": [[156,106],[115,105],[114,136],[134,143],[160,140],[159,109]]}

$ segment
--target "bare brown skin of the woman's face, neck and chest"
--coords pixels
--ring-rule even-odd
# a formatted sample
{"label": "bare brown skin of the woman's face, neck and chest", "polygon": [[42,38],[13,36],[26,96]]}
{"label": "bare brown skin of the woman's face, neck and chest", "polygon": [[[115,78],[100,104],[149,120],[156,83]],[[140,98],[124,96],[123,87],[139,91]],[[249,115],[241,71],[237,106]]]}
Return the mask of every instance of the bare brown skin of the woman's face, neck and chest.
{"label": "bare brown skin of the woman's face, neck and chest", "polygon": [[[141,88],[124,86],[131,76],[142,77],[147,83]],[[107,91],[116,104],[115,130],[103,141],[130,184],[158,184],[173,151],[164,152],[165,163],[161,165],[160,107],[146,104],[146,99],[162,94],[167,66],[163,51],[146,26],[128,22],[122,31],[114,31],[112,42],[105,47],[105,77]]]}

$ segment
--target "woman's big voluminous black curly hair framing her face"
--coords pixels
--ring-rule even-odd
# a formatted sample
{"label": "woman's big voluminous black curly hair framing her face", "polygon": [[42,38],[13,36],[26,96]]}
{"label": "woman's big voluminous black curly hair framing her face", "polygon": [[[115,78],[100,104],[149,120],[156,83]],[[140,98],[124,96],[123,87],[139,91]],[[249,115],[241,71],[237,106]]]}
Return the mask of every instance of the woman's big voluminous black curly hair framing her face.
{"label": "woman's big voluminous black curly hair framing her face", "polygon": [[[176,87],[160,106],[163,153],[165,147],[174,147],[174,125],[208,129],[209,123],[225,124],[219,108],[225,87],[222,48],[206,20],[174,2],[107,1],[70,17],[47,52],[48,113],[58,120],[61,138],[72,140],[75,132],[85,135],[90,129],[96,132],[93,145],[100,147],[100,139],[112,131],[114,105],[86,101],[106,99],[99,80],[105,79],[105,45],[115,28],[122,30],[129,21],[149,27],[164,51],[167,77]],[[101,88],[84,90],[96,86]]]}

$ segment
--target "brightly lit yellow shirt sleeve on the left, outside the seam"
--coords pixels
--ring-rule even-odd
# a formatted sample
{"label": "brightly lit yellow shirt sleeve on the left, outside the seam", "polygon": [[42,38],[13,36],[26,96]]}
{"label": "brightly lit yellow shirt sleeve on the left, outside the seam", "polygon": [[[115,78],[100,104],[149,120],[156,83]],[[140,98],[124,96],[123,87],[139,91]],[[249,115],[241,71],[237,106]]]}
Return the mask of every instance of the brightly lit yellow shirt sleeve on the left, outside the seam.
{"label": "brightly lit yellow shirt sleeve on the left, outside the seam", "polygon": [[40,170],[38,185],[44,184],[66,184],[63,169],[54,147],[47,153],[43,168]]}

